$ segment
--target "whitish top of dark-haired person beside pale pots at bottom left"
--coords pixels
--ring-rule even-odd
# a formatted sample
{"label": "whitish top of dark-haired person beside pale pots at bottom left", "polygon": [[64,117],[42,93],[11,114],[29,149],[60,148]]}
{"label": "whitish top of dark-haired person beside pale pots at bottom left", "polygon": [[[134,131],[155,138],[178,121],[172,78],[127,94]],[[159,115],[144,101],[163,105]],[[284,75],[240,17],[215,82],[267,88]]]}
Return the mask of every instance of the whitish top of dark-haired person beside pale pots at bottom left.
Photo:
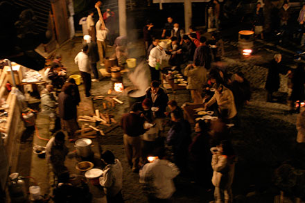
{"label": "whitish top of dark-haired person beside pale pots at bottom left", "polygon": [[121,191],[123,186],[123,168],[119,159],[114,164],[108,164],[100,177],[100,184],[107,195],[114,196]]}

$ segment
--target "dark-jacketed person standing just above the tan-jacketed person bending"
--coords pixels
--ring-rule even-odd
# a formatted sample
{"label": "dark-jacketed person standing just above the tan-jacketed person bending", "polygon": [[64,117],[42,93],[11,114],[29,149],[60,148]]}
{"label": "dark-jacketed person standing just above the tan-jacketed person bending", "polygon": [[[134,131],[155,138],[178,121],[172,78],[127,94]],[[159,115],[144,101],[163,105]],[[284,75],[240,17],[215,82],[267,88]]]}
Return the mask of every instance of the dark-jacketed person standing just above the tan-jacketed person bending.
{"label": "dark-jacketed person standing just above the tan-jacketed person bending", "polygon": [[209,70],[211,68],[211,48],[207,46],[207,38],[200,37],[200,46],[195,49],[193,62],[199,63],[200,67]]}

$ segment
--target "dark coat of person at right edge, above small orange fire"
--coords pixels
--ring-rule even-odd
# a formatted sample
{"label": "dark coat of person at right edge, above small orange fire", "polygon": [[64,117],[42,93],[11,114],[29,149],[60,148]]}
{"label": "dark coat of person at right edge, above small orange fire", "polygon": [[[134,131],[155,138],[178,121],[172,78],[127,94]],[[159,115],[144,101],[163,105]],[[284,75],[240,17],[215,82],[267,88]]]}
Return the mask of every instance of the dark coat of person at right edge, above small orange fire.
{"label": "dark coat of person at right edge, above small orange fire", "polygon": [[293,72],[293,78],[291,78],[293,84],[293,91],[291,92],[290,100],[293,101],[304,101],[304,85],[305,85],[305,72],[304,67],[300,66]]}

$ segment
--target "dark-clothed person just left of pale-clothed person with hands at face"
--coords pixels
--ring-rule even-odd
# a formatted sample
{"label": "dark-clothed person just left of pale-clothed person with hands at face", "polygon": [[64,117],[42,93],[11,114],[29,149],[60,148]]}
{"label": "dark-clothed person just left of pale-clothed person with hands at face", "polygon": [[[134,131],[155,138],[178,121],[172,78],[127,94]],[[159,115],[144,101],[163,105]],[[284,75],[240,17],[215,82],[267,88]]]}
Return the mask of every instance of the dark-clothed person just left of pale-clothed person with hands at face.
{"label": "dark-clothed person just left of pale-clothed person with hands at face", "polygon": [[210,152],[210,136],[207,133],[207,123],[203,120],[195,123],[195,137],[189,145],[190,165],[193,172],[195,183],[211,188],[211,152]]}

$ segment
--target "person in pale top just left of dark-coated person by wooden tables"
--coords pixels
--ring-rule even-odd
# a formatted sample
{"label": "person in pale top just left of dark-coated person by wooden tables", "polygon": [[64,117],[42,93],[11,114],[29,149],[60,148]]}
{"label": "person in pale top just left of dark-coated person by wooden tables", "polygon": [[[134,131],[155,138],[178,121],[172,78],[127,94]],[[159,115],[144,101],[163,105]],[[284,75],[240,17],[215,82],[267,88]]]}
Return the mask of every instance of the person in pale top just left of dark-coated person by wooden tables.
{"label": "person in pale top just left of dark-coated person by wooden tables", "polygon": [[54,123],[53,129],[50,132],[56,132],[60,129],[60,119],[56,114],[56,107],[58,105],[55,96],[52,94],[53,85],[46,85],[45,89],[40,92],[40,105],[42,108],[42,114],[49,116],[51,123]]}

